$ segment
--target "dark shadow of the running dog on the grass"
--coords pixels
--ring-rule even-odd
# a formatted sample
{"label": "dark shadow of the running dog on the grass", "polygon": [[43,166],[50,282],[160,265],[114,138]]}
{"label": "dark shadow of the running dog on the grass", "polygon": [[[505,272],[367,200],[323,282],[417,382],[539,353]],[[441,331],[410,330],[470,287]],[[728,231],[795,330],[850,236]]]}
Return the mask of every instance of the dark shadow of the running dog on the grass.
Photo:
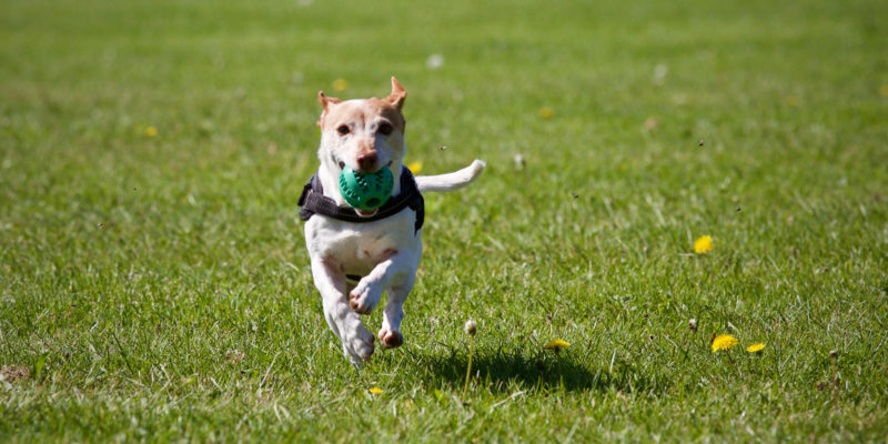
{"label": "dark shadow of the running dog on the grass", "polygon": [[[445,383],[460,387],[465,383],[468,356],[451,350],[434,354],[412,351],[416,364],[431,373],[427,383]],[[417,369],[418,370],[418,369]],[[522,350],[476,350],[472,357],[472,380],[492,392],[514,390],[547,391],[655,391],[665,389],[662,383],[632,372],[628,369],[616,375],[606,369],[591,369],[567,353],[528,353]]]}

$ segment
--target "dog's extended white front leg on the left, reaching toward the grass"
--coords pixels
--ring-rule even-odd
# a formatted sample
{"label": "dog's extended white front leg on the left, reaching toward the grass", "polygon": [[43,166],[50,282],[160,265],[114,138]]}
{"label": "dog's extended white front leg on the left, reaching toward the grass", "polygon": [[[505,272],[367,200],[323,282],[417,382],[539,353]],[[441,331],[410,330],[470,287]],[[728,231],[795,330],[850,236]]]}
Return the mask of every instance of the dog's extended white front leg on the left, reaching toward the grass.
{"label": "dog's extended white front leg on the left, reaching toward the grass", "polygon": [[340,336],[345,355],[355,365],[370,360],[373,354],[373,333],[349,306],[345,275],[333,260],[324,258],[312,258],[312,275],[321,293],[326,323]]}

